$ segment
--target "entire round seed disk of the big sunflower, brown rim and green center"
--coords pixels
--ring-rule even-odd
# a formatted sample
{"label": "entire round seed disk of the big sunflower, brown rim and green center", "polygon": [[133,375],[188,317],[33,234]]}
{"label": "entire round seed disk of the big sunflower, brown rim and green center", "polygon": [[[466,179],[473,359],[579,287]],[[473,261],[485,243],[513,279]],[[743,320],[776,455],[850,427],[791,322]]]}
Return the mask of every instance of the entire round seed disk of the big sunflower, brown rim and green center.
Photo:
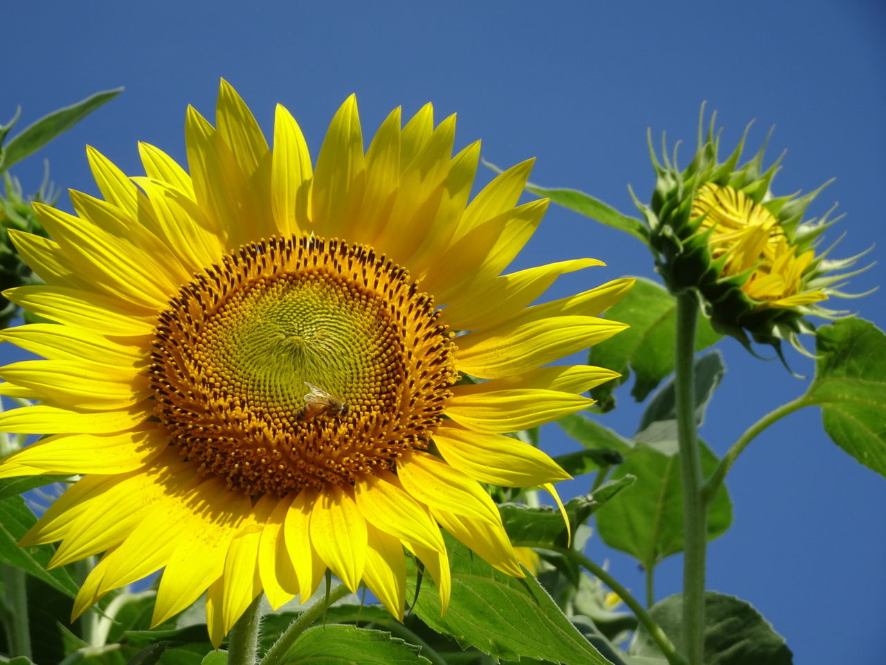
{"label": "entire round seed disk of the big sunflower, brown rim and green center", "polygon": [[425,448],[455,383],[452,334],[369,247],[261,240],[159,316],[155,416],[206,475],[252,495],[345,485]]}

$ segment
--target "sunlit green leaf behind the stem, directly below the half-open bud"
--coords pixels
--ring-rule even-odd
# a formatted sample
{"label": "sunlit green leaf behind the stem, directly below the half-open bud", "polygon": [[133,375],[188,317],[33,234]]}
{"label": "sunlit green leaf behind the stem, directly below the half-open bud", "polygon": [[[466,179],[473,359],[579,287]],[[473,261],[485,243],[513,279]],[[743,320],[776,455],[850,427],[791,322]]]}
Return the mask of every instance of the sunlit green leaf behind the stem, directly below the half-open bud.
{"label": "sunlit green leaf behind the stem, directly below the half-open bud", "polygon": [[[676,341],[677,301],[663,286],[638,278],[627,295],[606,313],[613,321],[631,327],[591,348],[588,364],[606,367],[621,374],[591,389],[602,412],[615,407],[612,391],[634,374],[631,395],[642,402],[666,376],[673,372],[673,348]],[[708,348],[720,339],[706,317],[698,317],[696,351]]]}

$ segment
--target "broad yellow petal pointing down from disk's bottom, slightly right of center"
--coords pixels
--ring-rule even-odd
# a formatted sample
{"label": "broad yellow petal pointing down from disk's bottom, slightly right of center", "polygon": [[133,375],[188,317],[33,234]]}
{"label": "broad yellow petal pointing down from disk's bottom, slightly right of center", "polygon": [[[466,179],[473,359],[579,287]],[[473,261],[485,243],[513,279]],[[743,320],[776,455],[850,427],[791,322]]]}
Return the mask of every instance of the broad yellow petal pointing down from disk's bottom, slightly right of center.
{"label": "broad yellow petal pointing down from disk's bottom, slightly right of center", "polygon": [[324,489],[311,511],[311,545],[348,589],[357,592],[366,565],[366,520],[344,489]]}

